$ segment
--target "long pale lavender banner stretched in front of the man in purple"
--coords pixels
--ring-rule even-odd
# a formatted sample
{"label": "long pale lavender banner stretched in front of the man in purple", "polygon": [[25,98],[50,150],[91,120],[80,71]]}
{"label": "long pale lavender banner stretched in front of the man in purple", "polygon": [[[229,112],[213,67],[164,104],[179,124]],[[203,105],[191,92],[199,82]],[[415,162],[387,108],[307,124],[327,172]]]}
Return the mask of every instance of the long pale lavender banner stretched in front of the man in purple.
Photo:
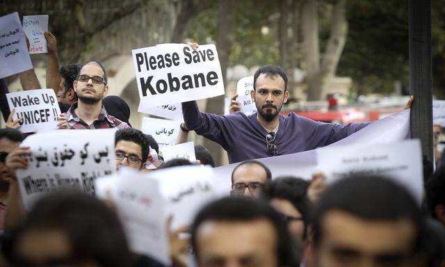
{"label": "long pale lavender banner stretched in front of the man in purple", "polygon": [[[398,143],[401,140],[409,138],[409,136],[410,110],[406,110],[373,122],[364,129],[357,131],[357,133],[321,149],[360,143],[366,143],[367,145]],[[303,179],[311,179],[312,174],[319,171],[316,150],[282,156],[271,156],[264,159],[257,159],[257,161],[266,164],[270,168],[273,178],[291,175]],[[213,168],[213,181],[218,195],[223,196],[230,193],[230,186],[232,184],[230,177],[238,164],[239,163],[232,163]]]}

